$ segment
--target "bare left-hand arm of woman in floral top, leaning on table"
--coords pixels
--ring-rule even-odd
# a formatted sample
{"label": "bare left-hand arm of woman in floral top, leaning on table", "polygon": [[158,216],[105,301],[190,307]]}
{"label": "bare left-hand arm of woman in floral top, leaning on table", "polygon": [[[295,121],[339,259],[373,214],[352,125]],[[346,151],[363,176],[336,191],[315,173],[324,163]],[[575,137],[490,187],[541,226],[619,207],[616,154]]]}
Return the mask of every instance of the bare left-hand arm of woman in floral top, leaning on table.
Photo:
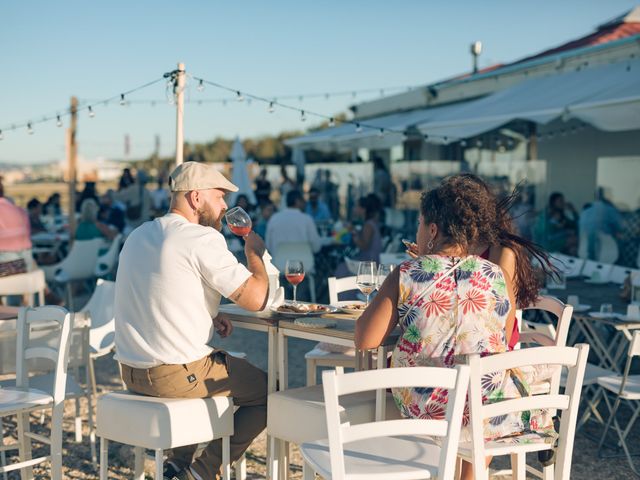
{"label": "bare left-hand arm of woman in floral top, leaning on table", "polygon": [[356,348],[377,348],[398,323],[399,269],[393,270],[356,322]]}

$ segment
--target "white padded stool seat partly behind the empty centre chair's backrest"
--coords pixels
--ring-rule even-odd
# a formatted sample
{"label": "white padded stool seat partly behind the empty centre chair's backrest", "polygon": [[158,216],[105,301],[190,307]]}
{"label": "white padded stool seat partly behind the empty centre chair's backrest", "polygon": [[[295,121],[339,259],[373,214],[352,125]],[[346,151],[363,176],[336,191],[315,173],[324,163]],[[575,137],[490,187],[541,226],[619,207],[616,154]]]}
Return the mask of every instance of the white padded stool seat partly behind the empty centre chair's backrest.
{"label": "white padded stool seat partly behind the empty centre chair's backrest", "polygon": [[[340,397],[341,415],[352,423],[371,422],[375,418],[375,392]],[[387,394],[386,419],[401,418],[393,397]],[[292,388],[269,395],[267,432],[281,440],[296,443],[327,438],[327,417],[322,385]]]}

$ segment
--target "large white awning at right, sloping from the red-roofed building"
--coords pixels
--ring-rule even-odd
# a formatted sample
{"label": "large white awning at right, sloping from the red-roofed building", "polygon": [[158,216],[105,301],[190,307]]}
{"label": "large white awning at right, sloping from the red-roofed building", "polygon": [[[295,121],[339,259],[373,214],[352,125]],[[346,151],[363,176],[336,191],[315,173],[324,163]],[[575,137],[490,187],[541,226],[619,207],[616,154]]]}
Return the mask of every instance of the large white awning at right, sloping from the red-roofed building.
{"label": "large white awning at right, sloping from the red-roofed building", "polygon": [[532,79],[418,125],[426,135],[467,138],[513,120],[576,118],[606,131],[640,128],[640,60]]}

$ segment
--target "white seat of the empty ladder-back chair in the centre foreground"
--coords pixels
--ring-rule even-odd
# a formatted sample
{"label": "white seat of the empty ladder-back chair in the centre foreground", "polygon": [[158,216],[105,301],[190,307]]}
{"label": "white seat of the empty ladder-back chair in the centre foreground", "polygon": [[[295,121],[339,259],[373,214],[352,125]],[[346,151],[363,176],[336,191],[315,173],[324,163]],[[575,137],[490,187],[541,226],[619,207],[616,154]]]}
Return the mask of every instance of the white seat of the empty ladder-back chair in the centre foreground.
{"label": "white seat of the empty ladder-back chair in the centre foreground", "polygon": [[[304,443],[302,452],[317,473],[331,478],[331,455],[326,440]],[[349,443],[344,449],[345,471],[354,480],[385,474],[394,480],[436,478],[439,461],[440,447],[429,437],[373,438]],[[416,471],[420,476],[416,476]]]}

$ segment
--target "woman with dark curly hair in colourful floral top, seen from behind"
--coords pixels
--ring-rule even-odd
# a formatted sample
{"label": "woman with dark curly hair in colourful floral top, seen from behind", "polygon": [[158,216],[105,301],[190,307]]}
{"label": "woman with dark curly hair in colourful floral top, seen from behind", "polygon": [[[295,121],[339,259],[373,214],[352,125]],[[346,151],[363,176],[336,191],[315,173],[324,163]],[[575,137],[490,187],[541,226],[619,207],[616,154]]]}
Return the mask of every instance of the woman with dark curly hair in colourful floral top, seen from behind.
{"label": "woman with dark curly hair in colourful floral top, seen from behind", "polygon": [[[456,175],[422,195],[417,257],[387,277],[356,324],[356,346],[378,347],[399,324],[392,366],[452,367],[469,354],[506,352],[514,331],[516,304],[537,296],[528,252],[544,253],[513,234],[505,206],[473,175]],[[484,255],[480,255],[484,254]],[[529,283],[531,282],[531,283]],[[522,303],[526,302],[526,303]],[[519,378],[528,386],[527,379]],[[520,396],[506,372],[482,379],[483,397]],[[519,385],[521,387],[521,385]],[[447,391],[394,389],[405,417],[443,418]],[[545,441],[553,430],[546,412],[518,413],[485,424],[487,439],[525,431],[530,441]],[[463,419],[461,441],[470,439]],[[538,435],[539,432],[540,434]],[[463,465],[462,478],[473,478]]]}

